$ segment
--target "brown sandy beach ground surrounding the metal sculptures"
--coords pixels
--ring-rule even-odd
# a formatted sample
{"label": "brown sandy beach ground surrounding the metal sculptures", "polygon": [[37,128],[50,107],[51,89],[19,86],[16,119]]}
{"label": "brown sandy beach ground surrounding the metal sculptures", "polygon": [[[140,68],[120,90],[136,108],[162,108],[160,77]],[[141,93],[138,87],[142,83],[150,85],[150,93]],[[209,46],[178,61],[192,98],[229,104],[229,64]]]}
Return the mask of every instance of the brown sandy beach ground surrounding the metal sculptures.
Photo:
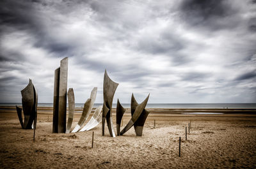
{"label": "brown sandy beach ground surrounding the metal sculptures", "polygon": [[[76,113],[72,129],[79,121],[80,115]],[[129,112],[125,113],[124,125],[130,118]],[[115,114],[113,119],[115,120]],[[156,128],[154,128],[154,119]],[[189,121],[192,128],[188,140],[185,140],[185,126],[188,126]],[[0,110],[0,166],[1,168],[256,168],[255,114],[182,115],[153,111],[145,123],[141,137],[135,135],[133,127],[124,136],[116,136],[116,138],[109,136],[107,127],[105,132],[105,136],[102,136],[101,124],[99,124],[92,131],[75,134],[52,133],[52,112],[47,108],[45,110],[41,108],[38,111],[36,136],[33,142],[33,130],[20,127],[15,110],[2,109]],[[179,157],[179,136],[182,138],[181,157]]]}

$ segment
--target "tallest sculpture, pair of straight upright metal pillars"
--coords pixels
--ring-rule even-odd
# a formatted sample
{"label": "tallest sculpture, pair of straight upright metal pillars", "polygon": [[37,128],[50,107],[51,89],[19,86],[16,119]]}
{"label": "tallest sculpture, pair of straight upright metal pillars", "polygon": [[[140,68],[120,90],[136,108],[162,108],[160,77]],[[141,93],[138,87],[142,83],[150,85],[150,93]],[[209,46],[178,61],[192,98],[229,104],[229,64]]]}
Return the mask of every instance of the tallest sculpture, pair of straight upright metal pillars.
{"label": "tallest sculpture, pair of straight upright metal pillars", "polygon": [[54,72],[52,133],[65,133],[67,116],[68,57],[60,61]]}

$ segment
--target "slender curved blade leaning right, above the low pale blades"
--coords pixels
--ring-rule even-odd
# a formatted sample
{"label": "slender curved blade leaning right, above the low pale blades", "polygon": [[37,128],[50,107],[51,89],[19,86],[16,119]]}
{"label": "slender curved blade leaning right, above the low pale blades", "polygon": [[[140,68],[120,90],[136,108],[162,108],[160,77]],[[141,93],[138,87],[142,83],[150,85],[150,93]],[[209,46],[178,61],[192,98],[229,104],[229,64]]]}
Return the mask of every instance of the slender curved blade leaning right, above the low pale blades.
{"label": "slender curved blade leaning right, above the low pale blades", "polygon": [[84,124],[88,116],[90,115],[90,112],[92,111],[92,107],[94,104],[94,101],[96,99],[96,94],[97,94],[97,87],[94,87],[91,96],[87,101],[84,103],[84,108],[83,108],[83,113],[79,119],[79,122],[76,125],[76,128],[73,129],[71,133],[76,133]]}

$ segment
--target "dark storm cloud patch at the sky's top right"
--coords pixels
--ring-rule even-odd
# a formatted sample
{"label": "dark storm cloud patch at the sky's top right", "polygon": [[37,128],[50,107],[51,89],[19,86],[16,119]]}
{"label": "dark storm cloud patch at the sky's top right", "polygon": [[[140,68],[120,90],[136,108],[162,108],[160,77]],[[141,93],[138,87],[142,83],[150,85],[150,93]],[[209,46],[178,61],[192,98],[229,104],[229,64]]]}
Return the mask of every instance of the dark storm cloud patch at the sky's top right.
{"label": "dark storm cloud patch at the sky's top right", "polygon": [[[232,29],[239,22],[238,12],[227,0],[185,0],[180,4],[182,18],[191,26],[205,26],[208,29]],[[225,18],[228,18],[225,20]]]}

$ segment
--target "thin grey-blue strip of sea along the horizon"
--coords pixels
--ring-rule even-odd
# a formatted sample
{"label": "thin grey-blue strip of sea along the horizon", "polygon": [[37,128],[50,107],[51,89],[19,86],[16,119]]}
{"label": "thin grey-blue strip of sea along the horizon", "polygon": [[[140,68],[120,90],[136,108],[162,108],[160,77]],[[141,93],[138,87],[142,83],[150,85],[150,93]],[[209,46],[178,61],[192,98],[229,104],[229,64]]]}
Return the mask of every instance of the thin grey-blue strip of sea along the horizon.
{"label": "thin grey-blue strip of sea along the horizon", "polygon": [[[22,103],[0,103],[0,106],[21,107]],[[102,103],[95,103],[99,107]],[[75,107],[83,107],[84,103],[76,103]],[[38,103],[38,107],[53,107],[52,103]],[[68,105],[67,105],[68,107]],[[113,108],[116,104],[113,103]],[[130,108],[130,103],[122,103],[122,107]],[[146,108],[256,108],[256,103],[148,103]]]}

